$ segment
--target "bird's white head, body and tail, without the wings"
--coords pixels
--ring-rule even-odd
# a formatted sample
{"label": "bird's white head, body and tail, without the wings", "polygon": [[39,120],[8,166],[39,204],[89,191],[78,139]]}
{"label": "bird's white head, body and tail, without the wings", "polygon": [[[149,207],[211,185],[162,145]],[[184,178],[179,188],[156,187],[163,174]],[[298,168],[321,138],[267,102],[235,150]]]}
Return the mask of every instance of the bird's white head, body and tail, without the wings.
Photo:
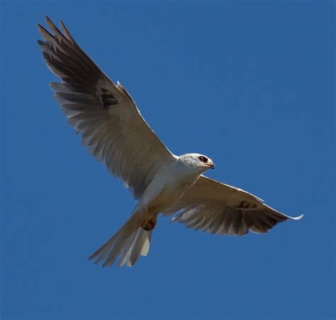
{"label": "bird's white head, body and tail, without the wings", "polygon": [[[130,219],[115,236],[91,255],[90,259],[98,258],[96,262],[99,263],[108,255],[103,265],[111,265],[123,250],[125,258],[121,258],[119,262],[121,266],[123,263],[133,265],[139,255],[147,255],[158,214],[167,210],[172,204],[177,204],[195,184],[201,172],[214,167],[211,160],[208,160],[209,165],[198,164],[200,157],[204,156],[196,153],[179,157],[174,155],[171,161],[162,165],[142,194]],[[136,243],[138,243],[137,254],[134,249]],[[135,260],[132,260],[132,257]]]}

